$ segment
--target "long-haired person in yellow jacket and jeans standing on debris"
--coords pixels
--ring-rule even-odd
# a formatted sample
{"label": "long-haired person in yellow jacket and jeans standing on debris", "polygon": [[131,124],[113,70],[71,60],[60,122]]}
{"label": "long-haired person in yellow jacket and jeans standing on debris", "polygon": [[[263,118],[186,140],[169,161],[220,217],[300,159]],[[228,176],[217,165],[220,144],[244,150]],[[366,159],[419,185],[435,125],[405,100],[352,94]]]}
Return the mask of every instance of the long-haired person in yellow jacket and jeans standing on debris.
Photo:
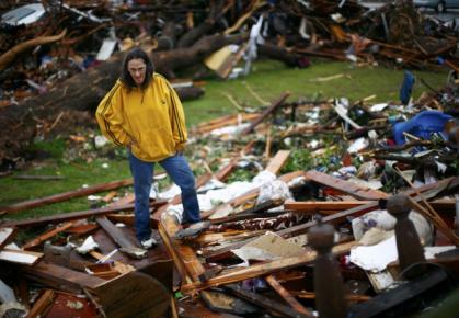
{"label": "long-haired person in yellow jacket and jeans standing on debris", "polygon": [[183,156],[187,139],[182,103],[165,78],[140,48],[125,57],[121,78],[100,103],[95,114],[105,137],[129,150],[134,177],[136,236],[144,248],[151,236],[149,194],[158,162],[182,190],[183,222],[199,222],[195,179]]}

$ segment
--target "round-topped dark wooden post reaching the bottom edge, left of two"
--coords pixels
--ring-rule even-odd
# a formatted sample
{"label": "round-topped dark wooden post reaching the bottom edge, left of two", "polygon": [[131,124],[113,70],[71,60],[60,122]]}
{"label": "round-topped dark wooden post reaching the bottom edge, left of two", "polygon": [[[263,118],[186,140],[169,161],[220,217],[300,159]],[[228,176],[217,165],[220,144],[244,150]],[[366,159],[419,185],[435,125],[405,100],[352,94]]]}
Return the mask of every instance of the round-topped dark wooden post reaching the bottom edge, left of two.
{"label": "round-topped dark wooden post reaching the bottom edge, left of two", "polygon": [[318,252],[313,277],[315,308],[320,318],[346,317],[343,279],[331,252],[334,232],[333,226],[323,224],[321,219],[308,231],[309,245]]}

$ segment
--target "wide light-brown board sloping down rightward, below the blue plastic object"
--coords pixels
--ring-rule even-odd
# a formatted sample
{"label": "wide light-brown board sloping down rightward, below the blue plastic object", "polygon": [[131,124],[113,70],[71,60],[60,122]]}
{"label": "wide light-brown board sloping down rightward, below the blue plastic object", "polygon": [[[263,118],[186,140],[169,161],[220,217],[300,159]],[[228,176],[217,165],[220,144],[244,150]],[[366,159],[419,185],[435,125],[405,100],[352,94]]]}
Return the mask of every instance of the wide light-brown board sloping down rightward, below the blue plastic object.
{"label": "wide light-brown board sloping down rightward, below the blue plastic object", "polygon": [[340,190],[344,193],[357,197],[358,200],[379,200],[386,198],[388,196],[388,194],[385,192],[372,189],[366,189],[356,183],[344,181],[315,170],[307,171],[305,173],[305,177],[307,180],[311,180],[319,184]]}

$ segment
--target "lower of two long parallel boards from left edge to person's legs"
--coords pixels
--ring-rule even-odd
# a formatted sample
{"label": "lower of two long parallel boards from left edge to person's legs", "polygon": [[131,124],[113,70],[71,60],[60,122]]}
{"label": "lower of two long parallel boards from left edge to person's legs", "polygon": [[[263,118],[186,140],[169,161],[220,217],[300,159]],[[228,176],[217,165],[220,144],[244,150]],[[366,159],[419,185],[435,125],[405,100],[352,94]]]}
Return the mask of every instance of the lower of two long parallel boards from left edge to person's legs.
{"label": "lower of two long parallel boards from left edge to person's legs", "polygon": [[[150,202],[150,207],[158,207],[165,204],[167,201],[153,201]],[[43,225],[48,223],[60,223],[66,220],[79,219],[79,218],[87,218],[91,216],[97,215],[105,215],[110,213],[116,213],[122,211],[133,211],[134,204],[126,204],[116,207],[102,207],[102,208],[94,208],[94,209],[87,209],[87,211],[79,211],[79,212],[69,212],[62,214],[56,214],[51,216],[44,216],[37,217],[33,219],[24,219],[24,220],[11,220],[11,222],[2,222],[0,226],[18,226],[18,227],[25,227],[25,226],[35,226],[35,225]]]}

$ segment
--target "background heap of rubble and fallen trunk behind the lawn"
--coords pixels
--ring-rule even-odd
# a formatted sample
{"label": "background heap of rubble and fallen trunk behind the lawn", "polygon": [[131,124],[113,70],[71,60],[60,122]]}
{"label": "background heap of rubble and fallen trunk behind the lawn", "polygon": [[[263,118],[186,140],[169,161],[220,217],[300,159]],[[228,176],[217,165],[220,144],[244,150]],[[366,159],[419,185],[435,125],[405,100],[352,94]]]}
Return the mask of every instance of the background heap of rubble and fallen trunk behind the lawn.
{"label": "background heap of rubble and fallen trunk behind the lawn", "polygon": [[[459,65],[456,31],[406,0],[378,10],[354,0],[42,1],[24,9],[35,12],[27,21],[8,11],[22,2],[0,8],[1,170],[26,157],[34,138],[84,125],[135,45],[151,53],[182,99],[200,96],[195,81],[209,72],[248,73],[257,56],[295,67],[309,66],[310,56],[456,72]],[[193,78],[177,80],[186,69]]]}

